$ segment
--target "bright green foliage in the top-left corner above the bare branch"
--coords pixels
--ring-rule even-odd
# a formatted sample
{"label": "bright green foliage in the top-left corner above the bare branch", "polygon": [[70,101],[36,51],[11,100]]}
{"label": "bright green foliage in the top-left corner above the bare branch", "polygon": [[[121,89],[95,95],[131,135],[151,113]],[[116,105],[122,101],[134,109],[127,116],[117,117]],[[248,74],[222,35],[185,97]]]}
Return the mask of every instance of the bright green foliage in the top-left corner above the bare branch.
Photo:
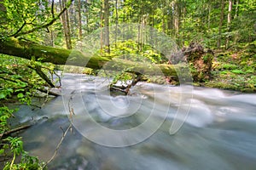
{"label": "bright green foliage in the top-left corner above the bare branch", "polygon": [[15,35],[19,30],[27,31],[49,20],[49,4],[46,0],[3,0],[6,9],[2,13],[5,22],[0,31],[5,36]]}

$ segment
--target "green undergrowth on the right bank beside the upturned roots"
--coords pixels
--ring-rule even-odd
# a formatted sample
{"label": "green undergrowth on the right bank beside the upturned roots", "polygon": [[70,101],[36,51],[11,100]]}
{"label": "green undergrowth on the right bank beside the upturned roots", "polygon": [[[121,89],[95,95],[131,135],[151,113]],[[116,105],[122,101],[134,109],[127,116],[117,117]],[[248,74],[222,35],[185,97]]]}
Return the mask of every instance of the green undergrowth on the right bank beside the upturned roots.
{"label": "green undergrowth on the right bank beside the upturned roots", "polygon": [[238,52],[225,51],[216,54],[212,64],[212,80],[203,85],[255,93],[256,53],[254,48],[255,44]]}

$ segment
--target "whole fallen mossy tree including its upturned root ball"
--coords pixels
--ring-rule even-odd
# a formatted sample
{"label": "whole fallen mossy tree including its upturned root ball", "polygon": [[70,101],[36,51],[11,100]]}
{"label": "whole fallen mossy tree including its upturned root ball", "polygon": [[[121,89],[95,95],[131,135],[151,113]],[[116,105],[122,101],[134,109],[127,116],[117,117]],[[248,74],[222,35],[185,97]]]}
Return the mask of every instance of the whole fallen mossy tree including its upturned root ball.
{"label": "whole fallen mossy tree including its upturned root ball", "polygon": [[[194,46],[189,46],[186,50],[179,52],[178,56],[181,55],[185,62],[175,65],[135,62],[117,58],[110,59],[94,54],[85,54],[79,50],[48,47],[14,37],[0,39],[0,54],[8,54],[23,59],[36,59],[55,65],[76,65],[95,70],[126,71],[137,75],[165,76],[172,77],[172,79],[176,77],[175,79],[178,79],[179,82],[188,82],[188,80],[191,82],[189,72],[192,72],[193,78],[197,81],[209,77],[213,56],[205,52],[203,48],[198,48],[201,46]],[[211,57],[208,57],[209,55]],[[186,65],[186,63],[189,63],[189,65]]]}

